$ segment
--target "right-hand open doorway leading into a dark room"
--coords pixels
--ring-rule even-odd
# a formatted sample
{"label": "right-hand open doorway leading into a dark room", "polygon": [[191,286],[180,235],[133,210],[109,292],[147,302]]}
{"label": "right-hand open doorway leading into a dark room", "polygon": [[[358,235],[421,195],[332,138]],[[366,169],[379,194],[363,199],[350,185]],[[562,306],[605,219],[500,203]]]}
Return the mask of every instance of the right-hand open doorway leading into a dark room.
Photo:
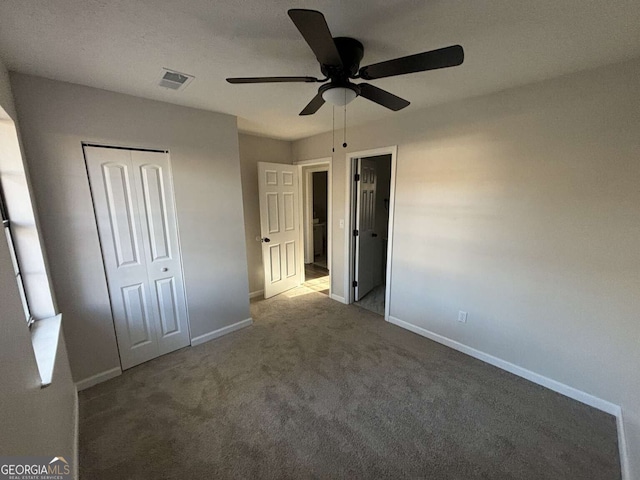
{"label": "right-hand open doorway leading into a dark room", "polygon": [[350,154],[346,303],[389,318],[396,147]]}

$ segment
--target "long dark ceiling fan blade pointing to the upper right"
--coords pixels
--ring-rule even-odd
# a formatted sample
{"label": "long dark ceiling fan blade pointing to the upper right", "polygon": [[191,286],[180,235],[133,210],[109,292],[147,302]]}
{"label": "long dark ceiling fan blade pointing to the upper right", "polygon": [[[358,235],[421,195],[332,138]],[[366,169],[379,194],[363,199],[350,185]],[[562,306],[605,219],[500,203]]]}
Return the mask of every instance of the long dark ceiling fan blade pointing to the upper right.
{"label": "long dark ceiling fan blade pointing to the upper right", "polygon": [[455,67],[464,61],[464,50],[460,45],[431,50],[429,52],[409,55],[408,57],[374,63],[360,69],[360,78],[375,80],[376,78],[393,77],[407,73],[424,72],[438,68]]}

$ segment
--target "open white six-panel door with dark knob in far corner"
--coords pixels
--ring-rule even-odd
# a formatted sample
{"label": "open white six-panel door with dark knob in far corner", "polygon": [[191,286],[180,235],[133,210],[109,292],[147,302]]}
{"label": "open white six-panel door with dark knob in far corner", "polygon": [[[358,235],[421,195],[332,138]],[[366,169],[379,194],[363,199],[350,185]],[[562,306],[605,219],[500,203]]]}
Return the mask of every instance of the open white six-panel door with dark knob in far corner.
{"label": "open white six-panel door with dark knob in far corner", "polygon": [[301,282],[298,172],[295,165],[258,163],[264,298]]}

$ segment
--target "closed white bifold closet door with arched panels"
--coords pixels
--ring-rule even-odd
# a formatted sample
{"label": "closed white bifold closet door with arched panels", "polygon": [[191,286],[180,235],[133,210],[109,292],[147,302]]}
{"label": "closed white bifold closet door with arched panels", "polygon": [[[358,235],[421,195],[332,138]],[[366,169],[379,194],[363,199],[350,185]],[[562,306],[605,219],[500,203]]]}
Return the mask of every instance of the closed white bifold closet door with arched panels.
{"label": "closed white bifold closet door with arched panels", "polygon": [[122,368],[189,345],[169,156],[85,147]]}

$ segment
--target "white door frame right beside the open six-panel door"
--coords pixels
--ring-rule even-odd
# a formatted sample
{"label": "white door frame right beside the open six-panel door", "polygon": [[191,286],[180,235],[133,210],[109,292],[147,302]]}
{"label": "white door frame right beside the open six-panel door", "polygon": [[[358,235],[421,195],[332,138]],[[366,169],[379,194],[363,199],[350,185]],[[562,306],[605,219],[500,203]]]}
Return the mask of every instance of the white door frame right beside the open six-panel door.
{"label": "white door frame right beside the open six-panel door", "polygon": [[[332,264],[332,255],[331,255],[331,238],[333,236],[332,230],[333,230],[333,192],[332,192],[332,179],[331,179],[331,170],[332,170],[332,161],[333,159],[331,157],[322,157],[322,158],[316,158],[316,159],[312,159],[312,160],[298,160],[293,162],[294,165],[298,166],[298,179],[300,180],[298,182],[298,191],[299,191],[299,195],[298,197],[300,198],[299,200],[299,206],[300,208],[298,208],[298,215],[299,215],[299,221],[300,221],[300,225],[302,225],[303,228],[300,229],[300,268],[302,270],[302,283],[304,283],[306,281],[305,278],[305,274],[304,274],[304,254],[305,254],[305,248],[306,248],[306,244],[305,244],[305,232],[309,231],[309,226],[310,226],[310,222],[312,222],[313,220],[311,220],[310,218],[310,222],[309,224],[305,224],[304,222],[304,212],[306,211],[306,209],[309,207],[310,203],[309,203],[309,189],[306,188],[305,190],[305,195],[303,195],[303,190],[302,190],[302,182],[305,182],[305,185],[308,181],[307,175],[303,176],[303,168],[307,168],[307,167],[319,167],[319,168],[311,168],[309,169],[309,172],[327,172],[327,267],[329,268],[329,279],[331,279],[331,272],[333,271],[333,264]],[[310,175],[308,175],[310,177]],[[313,227],[311,227],[312,229]],[[311,230],[313,232],[313,230]],[[333,287],[331,286],[331,280],[329,280],[329,297],[331,298],[331,293],[333,290]]]}

